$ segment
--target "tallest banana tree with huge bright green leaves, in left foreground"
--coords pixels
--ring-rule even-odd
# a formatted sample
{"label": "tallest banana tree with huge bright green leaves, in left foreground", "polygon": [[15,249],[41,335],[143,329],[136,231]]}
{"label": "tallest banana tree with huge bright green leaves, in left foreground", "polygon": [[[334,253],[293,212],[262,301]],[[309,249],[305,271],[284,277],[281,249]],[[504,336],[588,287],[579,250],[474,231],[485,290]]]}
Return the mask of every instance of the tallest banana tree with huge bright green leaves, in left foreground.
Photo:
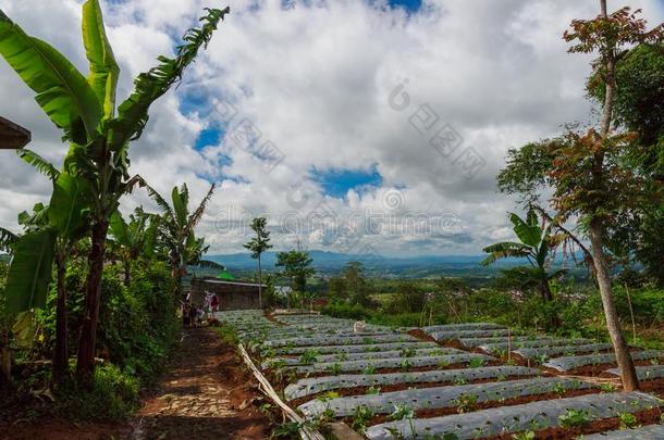
{"label": "tallest banana tree with huge bright green leaves, in left foreground", "polygon": [[[101,276],[110,217],[118,210],[122,196],[140,181],[137,176],[128,175],[130,142],[140,137],[152,102],[182,78],[185,68],[197,56],[199,49],[207,46],[219,22],[230,10],[206,11],[207,14],[200,18],[201,27],[185,33],[175,56],[160,56],[160,64],[136,78],[134,91],[118,108],[115,91],[120,68],[106,35],[98,0],[88,0],[83,4],[83,42],[89,62],[87,77],[59,51],[25,34],[0,11],[0,54],[37,93],[37,103],[62,129],[64,140],[70,142],[63,175],[86,184],[91,248],[86,279],[86,312],[77,360],[77,375],[84,385],[89,384],[95,367]],[[33,256],[48,257],[50,252],[52,259],[53,241],[42,239],[34,242],[30,249],[38,255]],[[34,267],[25,268],[27,279],[34,281],[24,286],[26,296],[30,296],[30,286],[39,284],[39,289],[45,289],[42,286],[48,277],[36,276],[39,275],[39,267],[37,271],[29,271]]]}

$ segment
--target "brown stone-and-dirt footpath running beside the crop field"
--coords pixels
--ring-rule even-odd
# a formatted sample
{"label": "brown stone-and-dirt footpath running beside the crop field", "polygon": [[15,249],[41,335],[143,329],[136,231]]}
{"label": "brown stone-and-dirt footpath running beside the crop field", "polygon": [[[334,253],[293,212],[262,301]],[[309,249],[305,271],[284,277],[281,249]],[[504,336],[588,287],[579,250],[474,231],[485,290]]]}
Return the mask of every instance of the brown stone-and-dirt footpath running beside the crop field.
{"label": "brown stone-and-dirt footpath running beside the crop field", "polygon": [[187,330],[159,391],[136,414],[131,438],[268,438],[270,420],[258,410],[260,395],[251,384],[234,348],[214,330]]}

